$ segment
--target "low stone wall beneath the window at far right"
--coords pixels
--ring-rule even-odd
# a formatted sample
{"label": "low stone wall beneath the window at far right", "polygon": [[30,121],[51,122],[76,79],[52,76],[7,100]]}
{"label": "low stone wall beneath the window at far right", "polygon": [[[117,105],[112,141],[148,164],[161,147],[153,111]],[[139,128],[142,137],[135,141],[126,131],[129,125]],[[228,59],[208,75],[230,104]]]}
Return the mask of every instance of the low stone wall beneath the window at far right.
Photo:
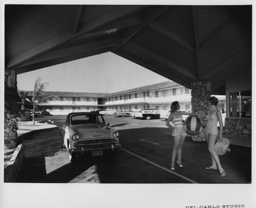
{"label": "low stone wall beneath the window at far right", "polygon": [[226,118],[225,133],[232,136],[251,138],[251,119]]}

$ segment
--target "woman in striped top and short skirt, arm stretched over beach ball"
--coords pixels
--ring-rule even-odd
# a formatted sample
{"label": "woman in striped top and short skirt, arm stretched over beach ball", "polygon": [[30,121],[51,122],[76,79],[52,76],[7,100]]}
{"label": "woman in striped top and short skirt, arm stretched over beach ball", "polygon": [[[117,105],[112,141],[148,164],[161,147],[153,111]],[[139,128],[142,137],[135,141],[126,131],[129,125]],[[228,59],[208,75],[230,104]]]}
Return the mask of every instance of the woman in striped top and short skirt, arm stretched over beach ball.
{"label": "woman in striped top and short skirt, arm stretched over beach ball", "polygon": [[[173,136],[174,136],[174,149],[173,149],[173,158],[172,158],[172,165],[171,169],[175,170],[175,158],[178,153],[178,160],[177,164],[180,167],[183,167],[181,163],[181,152],[182,152],[182,144],[186,137],[186,132],[183,127],[183,117],[182,115],[189,115],[189,116],[199,116],[195,113],[186,113],[180,110],[180,105],[178,101],[174,101],[172,105],[170,106],[170,115],[168,119],[166,120],[166,125],[169,128],[173,129]],[[200,116],[199,116],[200,118]],[[173,122],[174,126],[170,125],[170,121]]]}

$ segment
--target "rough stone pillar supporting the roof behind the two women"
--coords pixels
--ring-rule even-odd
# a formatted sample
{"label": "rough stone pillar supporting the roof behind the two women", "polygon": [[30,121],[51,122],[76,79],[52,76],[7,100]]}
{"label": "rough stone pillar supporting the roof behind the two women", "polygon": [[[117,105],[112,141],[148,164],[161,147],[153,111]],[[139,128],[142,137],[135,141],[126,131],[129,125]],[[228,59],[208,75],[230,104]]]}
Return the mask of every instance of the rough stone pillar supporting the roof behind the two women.
{"label": "rough stone pillar supporting the roof behind the two women", "polygon": [[[210,98],[211,83],[205,81],[199,81],[191,83],[191,111],[198,113],[206,124],[206,101]],[[196,136],[192,136],[193,141],[203,142],[205,141],[205,133],[203,131]]]}

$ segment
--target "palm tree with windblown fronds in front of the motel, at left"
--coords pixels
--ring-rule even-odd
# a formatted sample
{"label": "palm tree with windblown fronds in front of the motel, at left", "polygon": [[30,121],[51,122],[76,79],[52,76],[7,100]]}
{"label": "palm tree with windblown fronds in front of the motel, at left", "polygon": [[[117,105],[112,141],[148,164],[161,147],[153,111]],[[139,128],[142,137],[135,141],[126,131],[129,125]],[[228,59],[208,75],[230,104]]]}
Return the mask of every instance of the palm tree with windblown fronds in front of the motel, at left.
{"label": "palm tree with windblown fronds in front of the motel, at left", "polygon": [[33,102],[33,123],[35,124],[35,109],[38,105],[42,103],[48,103],[49,100],[56,98],[60,99],[58,96],[49,95],[45,92],[46,86],[49,84],[47,82],[41,83],[41,77],[38,77],[35,81],[32,102]]}

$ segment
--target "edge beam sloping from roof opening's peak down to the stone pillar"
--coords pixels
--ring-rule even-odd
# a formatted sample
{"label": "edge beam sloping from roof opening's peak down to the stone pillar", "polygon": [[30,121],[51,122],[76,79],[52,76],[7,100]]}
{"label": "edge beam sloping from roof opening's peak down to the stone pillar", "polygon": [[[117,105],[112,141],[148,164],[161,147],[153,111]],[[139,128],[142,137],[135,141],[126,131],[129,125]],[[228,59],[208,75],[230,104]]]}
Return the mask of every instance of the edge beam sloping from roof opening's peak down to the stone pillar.
{"label": "edge beam sloping from roof opening's peak down to the stone pillar", "polygon": [[120,57],[122,57],[124,59],[127,59],[129,61],[132,61],[132,62],[134,62],[134,63],[136,63],[136,64],[138,64],[138,65],[140,65],[140,66],[142,66],[142,67],[144,67],[144,68],[146,68],[148,70],[151,70],[151,71],[161,75],[161,76],[164,76],[167,79],[172,80],[172,81],[174,81],[174,82],[176,82],[176,83],[178,83],[178,84],[180,84],[180,85],[182,85],[184,87],[187,87],[189,89],[191,88],[190,83],[187,84],[184,81],[178,79],[177,77],[174,77],[174,76],[172,76],[169,73],[166,73],[166,72],[164,72],[162,70],[159,70],[159,69],[157,69],[156,67],[154,67],[154,66],[152,66],[150,64],[146,64],[145,62],[142,62],[141,60],[138,60],[138,59],[136,59],[136,58],[134,58],[134,57],[132,57],[130,55],[124,54],[124,53],[122,53],[119,50],[113,50],[112,53],[114,53],[114,54],[116,54],[116,55],[118,55],[118,56],[120,56]]}

